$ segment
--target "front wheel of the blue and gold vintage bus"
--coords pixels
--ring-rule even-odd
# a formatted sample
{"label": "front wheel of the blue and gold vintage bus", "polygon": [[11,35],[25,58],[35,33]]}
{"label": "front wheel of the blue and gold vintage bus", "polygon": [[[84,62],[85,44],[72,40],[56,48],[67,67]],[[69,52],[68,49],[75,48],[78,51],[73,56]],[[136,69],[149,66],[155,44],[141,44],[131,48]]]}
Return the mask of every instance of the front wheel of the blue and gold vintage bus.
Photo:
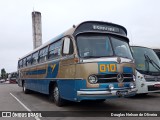
{"label": "front wheel of the blue and gold vintage bus", "polygon": [[57,84],[54,84],[50,92],[50,100],[57,106],[62,107],[65,105],[65,100],[60,97],[59,88]]}

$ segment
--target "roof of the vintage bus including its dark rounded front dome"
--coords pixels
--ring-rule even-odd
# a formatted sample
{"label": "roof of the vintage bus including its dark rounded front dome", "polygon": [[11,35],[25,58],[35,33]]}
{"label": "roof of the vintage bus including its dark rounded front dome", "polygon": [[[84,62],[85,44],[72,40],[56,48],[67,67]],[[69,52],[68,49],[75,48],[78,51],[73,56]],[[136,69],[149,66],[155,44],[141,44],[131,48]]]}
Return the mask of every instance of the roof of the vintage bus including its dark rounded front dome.
{"label": "roof of the vintage bus including its dark rounded front dome", "polygon": [[83,32],[101,32],[101,33],[112,33],[112,34],[121,35],[124,37],[127,36],[126,28],[121,25],[109,23],[109,22],[103,22],[103,21],[85,21],[85,22],[78,24],[77,26],[73,25],[72,28],[70,28],[67,31],[65,31],[64,33],[52,38],[48,42],[46,42],[43,45],[41,45],[40,47],[34,49],[33,51],[31,51],[27,55],[21,57],[20,59],[23,59],[23,58],[29,56],[30,54],[44,48],[45,46],[48,46],[49,44],[58,41],[59,39],[63,38],[66,35],[76,36],[77,34],[83,33]]}

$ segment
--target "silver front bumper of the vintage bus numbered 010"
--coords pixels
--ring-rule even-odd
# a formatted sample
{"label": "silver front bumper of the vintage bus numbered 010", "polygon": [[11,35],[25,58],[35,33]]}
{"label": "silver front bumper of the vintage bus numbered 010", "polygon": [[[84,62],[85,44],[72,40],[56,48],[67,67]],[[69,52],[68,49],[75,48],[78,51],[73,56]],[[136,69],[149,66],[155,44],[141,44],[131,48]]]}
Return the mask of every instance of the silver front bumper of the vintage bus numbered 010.
{"label": "silver front bumper of the vintage bus numbered 010", "polygon": [[86,96],[86,97],[111,97],[111,96],[118,96],[118,97],[126,97],[126,96],[133,96],[137,92],[136,88],[133,89],[119,89],[119,90],[106,90],[106,91],[87,91],[81,90],[77,91],[77,96]]}

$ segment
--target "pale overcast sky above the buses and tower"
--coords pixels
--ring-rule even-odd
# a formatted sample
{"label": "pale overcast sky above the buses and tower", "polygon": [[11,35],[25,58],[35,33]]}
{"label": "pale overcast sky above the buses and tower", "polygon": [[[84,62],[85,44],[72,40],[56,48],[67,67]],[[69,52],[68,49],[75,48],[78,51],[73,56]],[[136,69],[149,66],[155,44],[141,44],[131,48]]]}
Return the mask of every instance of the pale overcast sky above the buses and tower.
{"label": "pale overcast sky above the buses and tower", "polygon": [[45,43],[83,21],[124,26],[130,45],[160,48],[160,0],[0,0],[0,69],[17,70],[33,50],[33,11],[42,15]]}

